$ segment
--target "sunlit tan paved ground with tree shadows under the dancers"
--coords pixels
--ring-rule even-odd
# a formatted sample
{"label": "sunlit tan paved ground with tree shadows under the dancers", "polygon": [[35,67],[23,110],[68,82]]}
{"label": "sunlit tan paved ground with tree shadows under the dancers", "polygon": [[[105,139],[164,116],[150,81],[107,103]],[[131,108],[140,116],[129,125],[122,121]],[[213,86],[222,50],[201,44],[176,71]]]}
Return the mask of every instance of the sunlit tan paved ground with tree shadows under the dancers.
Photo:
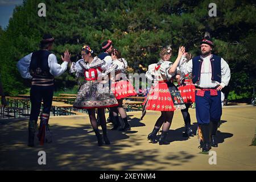
{"label": "sunlit tan paved ground with tree shadows under the dancers", "polygon": [[[190,110],[196,131],[195,109]],[[217,164],[209,155],[199,154],[197,137],[182,137],[180,111],[176,111],[168,139],[171,144],[149,143],[159,112],[129,112],[131,131],[109,130],[110,146],[98,147],[87,115],[52,117],[54,142],[27,147],[27,120],[0,121],[0,170],[256,170],[256,146],[250,146],[255,134],[256,107],[225,107],[218,129]],[[111,125],[108,124],[110,128]],[[39,166],[38,152],[46,151],[47,165]]]}

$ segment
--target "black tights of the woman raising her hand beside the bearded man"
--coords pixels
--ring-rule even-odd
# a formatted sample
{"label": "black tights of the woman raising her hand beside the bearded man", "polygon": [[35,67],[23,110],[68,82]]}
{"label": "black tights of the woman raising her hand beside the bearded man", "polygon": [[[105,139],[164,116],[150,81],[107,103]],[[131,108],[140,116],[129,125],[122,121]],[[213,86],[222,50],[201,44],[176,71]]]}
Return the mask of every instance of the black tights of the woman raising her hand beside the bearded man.
{"label": "black tights of the woman raising her hand beside the bearded man", "polygon": [[161,115],[155,123],[155,129],[160,129],[163,125],[163,131],[168,131],[171,127],[174,111],[161,111]]}

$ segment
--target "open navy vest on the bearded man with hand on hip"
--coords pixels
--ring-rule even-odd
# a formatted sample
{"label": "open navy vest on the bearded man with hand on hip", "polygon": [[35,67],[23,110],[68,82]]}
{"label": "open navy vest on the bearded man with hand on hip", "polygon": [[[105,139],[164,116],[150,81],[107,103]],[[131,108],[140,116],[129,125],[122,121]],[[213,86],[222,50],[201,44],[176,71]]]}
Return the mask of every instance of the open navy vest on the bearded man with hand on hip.
{"label": "open navy vest on the bearded man with hand on hip", "polygon": [[[195,84],[200,80],[201,76],[201,66],[203,63],[203,57],[196,56],[192,59],[193,69],[192,69],[192,81]],[[212,55],[210,57],[210,64],[212,65],[212,80],[221,82],[221,57]]]}

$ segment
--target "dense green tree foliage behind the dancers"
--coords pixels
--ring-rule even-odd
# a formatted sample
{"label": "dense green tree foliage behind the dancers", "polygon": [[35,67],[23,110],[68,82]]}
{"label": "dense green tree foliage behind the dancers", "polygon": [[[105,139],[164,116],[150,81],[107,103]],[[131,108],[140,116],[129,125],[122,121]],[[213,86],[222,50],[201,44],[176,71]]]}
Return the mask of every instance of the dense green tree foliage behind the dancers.
{"label": "dense green tree foliage behind the dancers", "polygon": [[[38,16],[38,4],[46,3],[46,17]],[[255,5],[253,1],[215,1],[217,17],[209,17],[211,1],[184,0],[110,0],[50,1],[27,0],[17,6],[5,31],[0,31],[0,73],[7,94],[25,93],[29,81],[20,77],[15,65],[19,59],[38,49],[44,33],[55,37],[55,53],[65,49],[72,61],[80,59],[83,44],[100,53],[101,43],[112,39],[114,47],[135,72],[144,72],[159,59],[162,47],[171,45],[172,61],[179,46],[184,45],[193,56],[209,31],[216,48],[214,53],[228,61],[232,71],[231,90],[238,96],[251,96],[255,86]],[[56,89],[72,89],[77,85],[66,72],[56,77]]]}

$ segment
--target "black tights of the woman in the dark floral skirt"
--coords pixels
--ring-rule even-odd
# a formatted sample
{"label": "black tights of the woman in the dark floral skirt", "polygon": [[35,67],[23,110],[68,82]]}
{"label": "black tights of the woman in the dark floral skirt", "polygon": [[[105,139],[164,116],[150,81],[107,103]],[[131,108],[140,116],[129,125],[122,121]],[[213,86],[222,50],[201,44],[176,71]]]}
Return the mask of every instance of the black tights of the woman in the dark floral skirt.
{"label": "black tights of the woman in the dark floral skirt", "polygon": [[[96,122],[96,116],[95,116],[95,109],[87,109],[89,118],[90,118],[90,124],[93,127],[94,132],[96,133],[98,131],[98,126]],[[106,117],[105,117],[105,109],[101,108],[98,109],[98,116],[100,117],[100,123],[101,123],[101,129],[103,134],[106,134]],[[96,133],[97,135],[97,133]]]}

